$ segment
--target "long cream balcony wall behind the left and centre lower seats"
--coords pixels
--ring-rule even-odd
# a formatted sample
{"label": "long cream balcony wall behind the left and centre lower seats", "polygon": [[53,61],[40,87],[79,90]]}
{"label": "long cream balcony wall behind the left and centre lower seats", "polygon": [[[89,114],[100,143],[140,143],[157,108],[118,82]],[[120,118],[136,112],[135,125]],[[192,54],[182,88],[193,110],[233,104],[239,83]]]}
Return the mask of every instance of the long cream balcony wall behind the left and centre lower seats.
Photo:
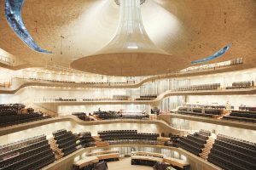
{"label": "long cream balcony wall behind the left and centre lower seats", "polygon": [[[15,130],[14,130],[15,128]],[[184,131],[176,130],[161,121],[140,121],[140,120],[115,120],[83,122],[75,116],[64,116],[61,118],[45,120],[41,123],[33,122],[5,129],[0,129],[3,134],[0,136],[0,144],[8,144],[20,139],[27,139],[40,134],[51,137],[52,132],[65,128],[73,133],[90,132],[96,135],[97,131],[103,130],[132,130],[137,129],[138,133],[174,133],[182,134]],[[22,130],[20,130],[22,129]],[[4,132],[3,132],[4,131]],[[9,132],[9,133],[8,133]]]}

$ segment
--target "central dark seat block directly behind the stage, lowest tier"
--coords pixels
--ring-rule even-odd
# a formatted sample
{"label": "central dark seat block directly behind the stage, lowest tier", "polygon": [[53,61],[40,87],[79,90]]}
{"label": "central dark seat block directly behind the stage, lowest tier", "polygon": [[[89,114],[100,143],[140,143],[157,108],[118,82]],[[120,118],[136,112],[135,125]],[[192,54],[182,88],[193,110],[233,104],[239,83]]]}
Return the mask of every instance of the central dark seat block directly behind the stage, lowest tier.
{"label": "central dark seat block directly behind the stage, lowest tier", "polygon": [[102,141],[109,144],[143,143],[156,144],[158,133],[137,133],[137,130],[111,130],[98,132]]}

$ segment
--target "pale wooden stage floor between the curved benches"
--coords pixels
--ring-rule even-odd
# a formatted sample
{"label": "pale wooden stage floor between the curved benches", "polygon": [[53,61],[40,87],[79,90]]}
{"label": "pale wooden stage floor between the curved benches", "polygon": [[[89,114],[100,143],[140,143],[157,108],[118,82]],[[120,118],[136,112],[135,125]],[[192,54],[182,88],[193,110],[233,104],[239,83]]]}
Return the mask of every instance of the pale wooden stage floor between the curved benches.
{"label": "pale wooden stage floor between the curved benches", "polygon": [[153,167],[143,165],[131,165],[131,157],[120,158],[119,161],[109,161],[108,170],[152,170]]}

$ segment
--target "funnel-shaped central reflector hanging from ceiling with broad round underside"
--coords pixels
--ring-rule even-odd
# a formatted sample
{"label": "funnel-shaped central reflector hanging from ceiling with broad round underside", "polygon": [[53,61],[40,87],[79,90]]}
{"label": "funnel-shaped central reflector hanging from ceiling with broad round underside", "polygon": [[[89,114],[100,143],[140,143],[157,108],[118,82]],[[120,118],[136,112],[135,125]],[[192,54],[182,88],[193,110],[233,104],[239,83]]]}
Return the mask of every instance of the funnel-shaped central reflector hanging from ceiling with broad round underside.
{"label": "funnel-shaped central reflector hanging from ceiling with broad round underside", "polygon": [[73,61],[79,71],[138,77],[164,74],[189,66],[189,60],[156,47],[143,27],[141,5],[145,0],[115,0],[120,6],[116,35],[96,54]]}

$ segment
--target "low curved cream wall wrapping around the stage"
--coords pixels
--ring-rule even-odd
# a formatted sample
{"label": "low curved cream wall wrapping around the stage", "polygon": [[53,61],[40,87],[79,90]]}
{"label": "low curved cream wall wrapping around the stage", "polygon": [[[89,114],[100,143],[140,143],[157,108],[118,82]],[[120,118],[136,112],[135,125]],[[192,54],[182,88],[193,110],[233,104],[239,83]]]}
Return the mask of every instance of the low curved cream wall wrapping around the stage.
{"label": "low curved cream wall wrapping around the stage", "polygon": [[94,152],[97,150],[119,150],[120,156],[124,156],[131,155],[131,148],[137,151],[161,153],[164,154],[166,157],[173,157],[176,159],[188,161],[191,170],[221,170],[221,168],[216,167],[215,165],[209,163],[208,161],[204,161],[199,156],[190,154],[186,150],[150,144],[113,144],[108,147],[102,148],[85,148],[78,150],[69,156],[65,156],[59,161],[55,161],[55,163],[52,163],[49,166],[44,167],[43,170],[72,170],[73,162],[83,159],[85,154],[88,152]]}

